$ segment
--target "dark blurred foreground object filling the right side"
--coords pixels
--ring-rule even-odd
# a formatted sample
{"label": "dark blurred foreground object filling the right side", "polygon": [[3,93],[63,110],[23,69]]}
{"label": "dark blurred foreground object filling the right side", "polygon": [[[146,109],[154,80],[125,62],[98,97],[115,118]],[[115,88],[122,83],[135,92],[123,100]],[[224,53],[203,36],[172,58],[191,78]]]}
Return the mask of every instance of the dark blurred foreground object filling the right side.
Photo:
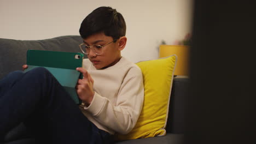
{"label": "dark blurred foreground object filling the right side", "polygon": [[256,143],[255,4],[194,1],[185,143]]}

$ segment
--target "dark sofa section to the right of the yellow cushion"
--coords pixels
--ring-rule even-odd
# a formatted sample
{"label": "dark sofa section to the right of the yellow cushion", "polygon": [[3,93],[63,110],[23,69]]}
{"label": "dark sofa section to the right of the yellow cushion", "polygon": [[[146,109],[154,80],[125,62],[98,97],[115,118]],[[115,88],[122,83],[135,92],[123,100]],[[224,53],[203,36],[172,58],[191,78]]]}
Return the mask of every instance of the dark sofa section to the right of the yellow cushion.
{"label": "dark sofa section to the right of the yellow cushion", "polygon": [[185,99],[189,78],[176,76],[173,79],[166,133],[184,134]]}

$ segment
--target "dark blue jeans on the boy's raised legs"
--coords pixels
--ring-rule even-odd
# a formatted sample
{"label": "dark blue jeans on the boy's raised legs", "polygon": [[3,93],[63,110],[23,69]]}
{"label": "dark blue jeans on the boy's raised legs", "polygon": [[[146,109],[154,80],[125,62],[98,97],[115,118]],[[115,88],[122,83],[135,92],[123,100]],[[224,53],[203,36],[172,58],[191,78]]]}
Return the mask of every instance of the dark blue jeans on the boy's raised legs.
{"label": "dark blue jeans on the boy's raised legs", "polygon": [[0,140],[24,122],[36,143],[110,143],[110,135],[83,115],[45,68],[14,71],[0,80],[0,117]]}

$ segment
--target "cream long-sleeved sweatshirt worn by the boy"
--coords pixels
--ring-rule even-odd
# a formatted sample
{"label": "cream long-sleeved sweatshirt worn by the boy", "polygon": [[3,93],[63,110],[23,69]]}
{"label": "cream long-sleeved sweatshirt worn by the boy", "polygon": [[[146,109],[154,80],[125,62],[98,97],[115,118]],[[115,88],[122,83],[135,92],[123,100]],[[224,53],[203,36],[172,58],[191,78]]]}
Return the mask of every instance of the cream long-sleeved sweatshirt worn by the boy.
{"label": "cream long-sleeved sweatshirt worn by the boy", "polygon": [[144,100],[141,69],[124,57],[102,70],[84,59],[83,67],[94,79],[95,91],[88,107],[79,106],[84,115],[110,134],[129,133],[135,127]]}

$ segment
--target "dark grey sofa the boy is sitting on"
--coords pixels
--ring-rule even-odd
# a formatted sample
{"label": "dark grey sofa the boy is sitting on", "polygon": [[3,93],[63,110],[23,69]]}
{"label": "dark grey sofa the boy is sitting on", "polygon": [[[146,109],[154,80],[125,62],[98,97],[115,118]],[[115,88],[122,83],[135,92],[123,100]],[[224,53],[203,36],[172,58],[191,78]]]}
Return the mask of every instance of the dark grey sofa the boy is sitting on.
{"label": "dark grey sofa the boy is sitting on", "polygon": [[[10,71],[21,70],[26,63],[28,49],[80,52],[78,45],[82,38],[78,35],[66,35],[45,40],[13,40],[0,38],[0,79]],[[174,77],[169,106],[166,136],[150,137],[147,139],[119,141],[115,143],[183,143],[184,133],[184,103],[188,92],[188,79]],[[1,117],[1,116],[0,116]],[[34,143],[33,135],[20,123],[4,136],[4,142]]]}

